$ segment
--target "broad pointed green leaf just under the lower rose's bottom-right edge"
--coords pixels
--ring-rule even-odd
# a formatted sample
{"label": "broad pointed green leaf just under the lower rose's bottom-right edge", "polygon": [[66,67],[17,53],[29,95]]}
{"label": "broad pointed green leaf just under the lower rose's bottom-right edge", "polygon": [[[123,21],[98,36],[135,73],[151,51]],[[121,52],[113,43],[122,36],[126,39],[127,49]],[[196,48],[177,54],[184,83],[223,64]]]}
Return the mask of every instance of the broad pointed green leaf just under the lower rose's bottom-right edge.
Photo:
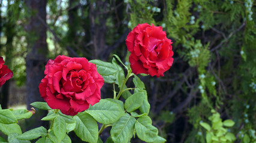
{"label": "broad pointed green leaf just under the lower rose's bottom-right edge", "polygon": [[105,125],[116,122],[125,114],[125,111],[119,104],[109,100],[100,100],[100,102],[90,106],[85,112],[89,113],[95,120]]}

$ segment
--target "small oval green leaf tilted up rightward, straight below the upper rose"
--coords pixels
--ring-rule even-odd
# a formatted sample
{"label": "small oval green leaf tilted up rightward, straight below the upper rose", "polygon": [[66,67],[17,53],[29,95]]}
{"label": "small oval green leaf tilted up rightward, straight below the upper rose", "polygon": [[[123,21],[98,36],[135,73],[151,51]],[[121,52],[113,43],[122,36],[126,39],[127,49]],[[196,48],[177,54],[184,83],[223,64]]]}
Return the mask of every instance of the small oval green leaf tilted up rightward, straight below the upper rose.
{"label": "small oval green leaf tilted up rightward, straight below the upper rose", "polygon": [[142,105],[145,98],[144,92],[137,92],[125,100],[125,109],[130,113]]}

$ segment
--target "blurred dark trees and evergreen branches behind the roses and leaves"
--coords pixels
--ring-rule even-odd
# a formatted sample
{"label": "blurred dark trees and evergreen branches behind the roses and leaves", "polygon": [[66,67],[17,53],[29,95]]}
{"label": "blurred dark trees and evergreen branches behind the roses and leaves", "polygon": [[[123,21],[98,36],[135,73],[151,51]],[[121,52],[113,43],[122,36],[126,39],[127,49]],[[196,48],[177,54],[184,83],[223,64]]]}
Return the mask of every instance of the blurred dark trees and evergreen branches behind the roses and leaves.
{"label": "blurred dark trees and evergreen branches behind the roses and leaves", "polygon": [[[14,73],[1,87],[2,108],[43,101],[38,85],[57,55],[127,61],[125,39],[138,23],[162,26],[174,63],[164,77],[140,76],[150,117],[167,142],[206,142],[211,109],[235,122],[235,142],[253,142],[256,129],[254,0],[1,0],[0,56]],[[132,84],[128,82],[128,86]],[[113,98],[104,84],[102,98]],[[47,126],[43,111],[20,123]],[[72,133],[72,132],[71,132]],[[101,138],[106,140],[109,130]],[[81,142],[73,136],[73,142]],[[137,137],[131,142],[140,142]]]}

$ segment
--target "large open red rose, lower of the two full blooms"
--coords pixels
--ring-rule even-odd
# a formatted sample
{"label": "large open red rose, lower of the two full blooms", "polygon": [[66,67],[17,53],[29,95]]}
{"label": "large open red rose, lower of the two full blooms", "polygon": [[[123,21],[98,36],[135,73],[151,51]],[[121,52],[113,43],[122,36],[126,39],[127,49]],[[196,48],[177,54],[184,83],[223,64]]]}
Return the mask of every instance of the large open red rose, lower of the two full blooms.
{"label": "large open red rose, lower of the two full blooms", "polygon": [[59,55],[49,60],[39,91],[44,101],[62,113],[74,116],[101,99],[104,79],[86,58]]}

